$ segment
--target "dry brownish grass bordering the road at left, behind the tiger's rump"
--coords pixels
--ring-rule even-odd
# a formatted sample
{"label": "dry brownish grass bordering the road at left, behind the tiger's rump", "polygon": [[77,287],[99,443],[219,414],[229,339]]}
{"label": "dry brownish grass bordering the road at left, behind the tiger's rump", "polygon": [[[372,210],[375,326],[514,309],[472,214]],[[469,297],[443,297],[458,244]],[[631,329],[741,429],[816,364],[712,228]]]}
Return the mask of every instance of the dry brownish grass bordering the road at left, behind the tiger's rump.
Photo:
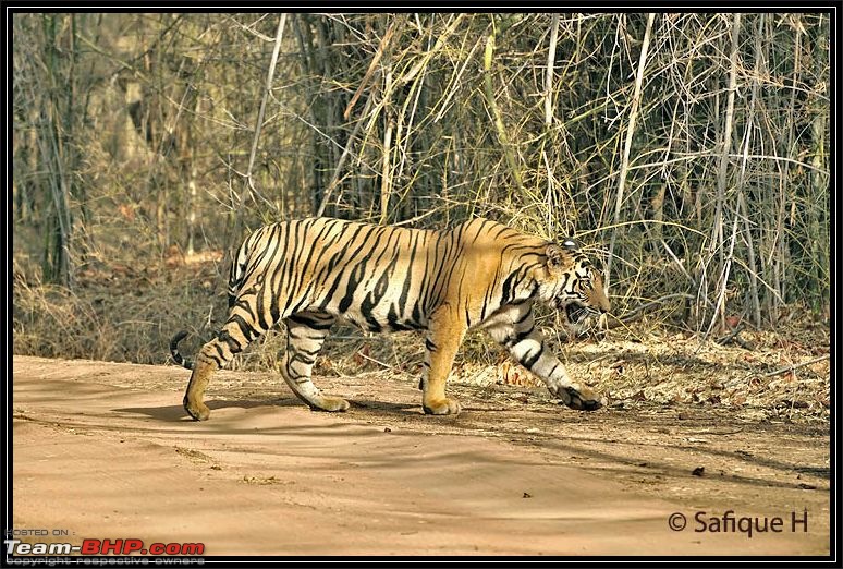
{"label": "dry brownish grass bordering the road at left, behind the tiger's rump", "polygon": [[204,324],[213,322],[212,314],[224,308],[224,296],[213,293],[215,279],[208,265],[198,273],[121,265],[81,273],[70,291],[32,280],[16,269],[14,352],[163,363],[175,331],[204,330]]}

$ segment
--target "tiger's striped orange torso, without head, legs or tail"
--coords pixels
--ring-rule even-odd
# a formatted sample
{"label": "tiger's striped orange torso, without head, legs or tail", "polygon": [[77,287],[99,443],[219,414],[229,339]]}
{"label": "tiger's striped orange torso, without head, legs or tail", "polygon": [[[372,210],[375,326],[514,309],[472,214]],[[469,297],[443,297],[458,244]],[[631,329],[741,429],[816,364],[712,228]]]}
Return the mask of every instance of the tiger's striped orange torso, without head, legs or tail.
{"label": "tiger's striped orange torso, without head, legs or tail", "polygon": [[317,310],[379,332],[424,329],[436,307],[452,302],[468,310],[472,325],[492,312],[496,296],[486,289],[502,286],[496,277],[506,254],[535,262],[542,244],[486,219],[445,231],[330,218],[279,222],[240,247],[230,305],[245,303],[264,323]]}

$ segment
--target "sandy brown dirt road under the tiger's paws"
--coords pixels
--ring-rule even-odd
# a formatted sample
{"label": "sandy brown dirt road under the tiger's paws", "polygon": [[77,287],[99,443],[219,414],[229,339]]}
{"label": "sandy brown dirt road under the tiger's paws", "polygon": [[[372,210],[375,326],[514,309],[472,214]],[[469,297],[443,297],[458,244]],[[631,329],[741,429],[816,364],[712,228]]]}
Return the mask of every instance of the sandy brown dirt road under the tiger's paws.
{"label": "sandy brown dirt road under the tiger's paws", "polygon": [[[824,421],[650,401],[584,414],[500,385],[453,385],[463,413],[431,417],[414,382],[383,374],[319,378],[352,401],[328,414],[272,374],[221,372],[195,423],[187,378],[15,356],[14,528],[206,555],[829,554]],[[782,532],[695,531],[729,510]]]}

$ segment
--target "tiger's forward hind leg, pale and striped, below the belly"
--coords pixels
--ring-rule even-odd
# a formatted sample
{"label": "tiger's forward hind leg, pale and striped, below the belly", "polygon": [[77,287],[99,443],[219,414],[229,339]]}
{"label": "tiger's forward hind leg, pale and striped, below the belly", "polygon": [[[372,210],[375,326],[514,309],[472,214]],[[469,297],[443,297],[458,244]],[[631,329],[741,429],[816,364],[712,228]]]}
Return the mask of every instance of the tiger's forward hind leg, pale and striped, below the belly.
{"label": "tiger's forward hind leg, pale and striped, below the belly", "polygon": [[322,312],[300,312],[288,317],[286,353],[281,361],[281,375],[293,392],[310,409],[345,411],[349,402],[322,395],[310,380],[316,358],[330,332],[334,317]]}

